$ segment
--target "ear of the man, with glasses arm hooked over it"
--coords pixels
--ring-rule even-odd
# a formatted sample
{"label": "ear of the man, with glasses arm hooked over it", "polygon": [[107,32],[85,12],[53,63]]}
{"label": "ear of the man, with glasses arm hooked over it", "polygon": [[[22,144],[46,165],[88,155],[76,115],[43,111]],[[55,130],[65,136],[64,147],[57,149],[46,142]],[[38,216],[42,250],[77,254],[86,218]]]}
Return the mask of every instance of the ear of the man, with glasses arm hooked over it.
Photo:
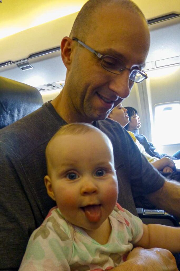
{"label": "ear of the man, with glasses arm hooked over it", "polygon": [[70,64],[72,60],[72,42],[72,39],[69,37],[64,37],[61,41],[61,57],[67,70],[70,69]]}

